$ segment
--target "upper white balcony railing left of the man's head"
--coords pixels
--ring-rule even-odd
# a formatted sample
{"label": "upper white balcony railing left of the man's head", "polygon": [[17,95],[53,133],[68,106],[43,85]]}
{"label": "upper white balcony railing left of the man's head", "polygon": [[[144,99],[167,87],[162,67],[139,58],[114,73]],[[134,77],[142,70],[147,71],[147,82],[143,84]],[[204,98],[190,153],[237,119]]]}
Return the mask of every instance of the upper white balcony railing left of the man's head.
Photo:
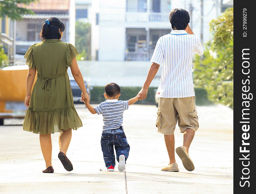
{"label": "upper white balcony railing left of the man's head", "polygon": [[168,13],[126,12],[127,22],[169,22]]}

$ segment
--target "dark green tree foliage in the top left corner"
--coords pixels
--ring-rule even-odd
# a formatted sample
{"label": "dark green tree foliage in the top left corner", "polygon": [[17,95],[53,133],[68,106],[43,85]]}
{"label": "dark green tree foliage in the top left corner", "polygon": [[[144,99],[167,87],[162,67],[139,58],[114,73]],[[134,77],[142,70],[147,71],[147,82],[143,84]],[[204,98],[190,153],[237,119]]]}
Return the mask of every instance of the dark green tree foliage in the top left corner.
{"label": "dark green tree foliage in the top left corner", "polygon": [[[8,16],[11,19],[22,19],[23,14],[33,14],[34,12],[26,9],[25,5],[38,0],[4,0],[0,1],[0,17]],[[17,6],[22,5],[22,6]]]}

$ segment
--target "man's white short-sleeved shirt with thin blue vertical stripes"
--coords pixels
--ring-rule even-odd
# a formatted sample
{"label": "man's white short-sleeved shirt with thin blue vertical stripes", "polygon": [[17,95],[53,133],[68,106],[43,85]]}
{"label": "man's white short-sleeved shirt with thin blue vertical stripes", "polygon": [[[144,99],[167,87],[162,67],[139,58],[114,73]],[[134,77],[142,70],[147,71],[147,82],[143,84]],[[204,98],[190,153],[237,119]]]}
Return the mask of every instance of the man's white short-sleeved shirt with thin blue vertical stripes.
{"label": "man's white short-sleeved shirt with thin blue vertical stripes", "polygon": [[195,96],[192,78],[192,60],[196,52],[204,54],[199,38],[185,30],[173,30],[157,41],[151,62],[161,65],[161,98],[185,98]]}

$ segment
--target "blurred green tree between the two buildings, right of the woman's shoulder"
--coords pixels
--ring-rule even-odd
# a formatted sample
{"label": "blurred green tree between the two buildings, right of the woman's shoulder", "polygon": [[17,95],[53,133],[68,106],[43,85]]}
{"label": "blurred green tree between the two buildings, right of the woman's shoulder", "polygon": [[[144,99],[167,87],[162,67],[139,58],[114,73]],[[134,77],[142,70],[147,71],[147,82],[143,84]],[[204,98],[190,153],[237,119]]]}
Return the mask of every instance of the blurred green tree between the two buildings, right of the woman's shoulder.
{"label": "blurred green tree between the two buildings, right of the woman's shoulder", "polygon": [[78,60],[90,60],[91,25],[82,21],[75,23],[76,49],[79,52]]}

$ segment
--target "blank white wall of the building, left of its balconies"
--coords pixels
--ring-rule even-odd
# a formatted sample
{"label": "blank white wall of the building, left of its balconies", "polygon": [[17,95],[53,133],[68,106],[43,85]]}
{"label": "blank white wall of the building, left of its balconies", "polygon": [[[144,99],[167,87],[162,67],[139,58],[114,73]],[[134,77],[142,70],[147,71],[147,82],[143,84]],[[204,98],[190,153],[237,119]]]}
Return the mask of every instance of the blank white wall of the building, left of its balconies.
{"label": "blank white wall of the building, left of its balconies", "polygon": [[[98,38],[99,60],[124,60],[126,0],[98,1],[98,32],[92,31],[92,35],[95,32],[92,39]],[[96,29],[97,26],[94,28]],[[98,33],[98,37],[96,37],[96,33]],[[97,40],[94,40],[94,42],[96,43]],[[96,53],[96,47],[92,52]]]}

